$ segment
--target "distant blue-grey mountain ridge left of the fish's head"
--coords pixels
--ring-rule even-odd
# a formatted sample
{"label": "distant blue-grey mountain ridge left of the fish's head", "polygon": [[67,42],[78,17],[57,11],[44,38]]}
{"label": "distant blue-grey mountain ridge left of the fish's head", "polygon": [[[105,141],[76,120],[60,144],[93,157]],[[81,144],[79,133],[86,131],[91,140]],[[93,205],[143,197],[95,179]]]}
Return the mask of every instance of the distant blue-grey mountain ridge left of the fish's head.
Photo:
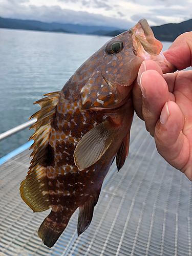
{"label": "distant blue-grey mountain ridge left of the fish's head", "polygon": [[109,31],[116,30],[115,27],[104,27],[104,26],[84,26],[74,24],[61,24],[61,23],[45,23],[38,22],[37,20],[22,20],[12,18],[0,17],[0,28],[7,29],[26,29],[26,30],[40,30],[40,31],[54,31],[54,32],[70,32],[77,34],[88,34],[93,33],[97,30]]}

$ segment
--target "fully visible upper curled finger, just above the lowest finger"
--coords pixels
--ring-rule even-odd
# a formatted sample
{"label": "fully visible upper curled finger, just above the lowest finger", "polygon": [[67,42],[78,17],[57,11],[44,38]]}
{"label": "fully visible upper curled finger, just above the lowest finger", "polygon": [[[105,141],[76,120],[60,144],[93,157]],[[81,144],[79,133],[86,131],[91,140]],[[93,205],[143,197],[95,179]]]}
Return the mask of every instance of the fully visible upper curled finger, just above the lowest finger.
{"label": "fully visible upper curled finger, just above the lowest finger", "polygon": [[156,70],[143,72],[140,83],[143,94],[143,119],[145,121],[146,130],[154,136],[155,126],[160,117],[161,110],[165,102],[169,99],[168,87],[162,74],[158,73]]}

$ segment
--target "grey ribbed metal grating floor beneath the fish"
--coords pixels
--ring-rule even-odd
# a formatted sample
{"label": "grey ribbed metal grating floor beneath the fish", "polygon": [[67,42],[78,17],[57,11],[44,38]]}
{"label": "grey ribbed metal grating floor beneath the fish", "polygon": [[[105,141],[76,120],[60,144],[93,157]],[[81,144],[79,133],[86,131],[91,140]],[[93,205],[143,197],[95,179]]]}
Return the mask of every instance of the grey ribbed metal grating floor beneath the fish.
{"label": "grey ribbed metal grating floor beneath the fish", "polygon": [[106,176],[90,227],[76,237],[77,215],[52,248],[37,236],[49,212],[33,213],[19,195],[29,150],[0,166],[0,256],[188,256],[191,252],[191,182],[157,153],[137,117],[130,154]]}

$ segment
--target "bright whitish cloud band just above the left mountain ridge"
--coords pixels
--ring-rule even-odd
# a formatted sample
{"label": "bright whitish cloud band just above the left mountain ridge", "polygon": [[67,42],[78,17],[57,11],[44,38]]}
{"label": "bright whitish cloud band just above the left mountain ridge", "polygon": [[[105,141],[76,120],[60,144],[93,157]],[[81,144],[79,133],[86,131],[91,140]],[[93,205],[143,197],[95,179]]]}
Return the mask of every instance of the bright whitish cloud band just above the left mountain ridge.
{"label": "bright whitish cloud band just above the left mountain ridge", "polygon": [[3,5],[0,3],[0,16],[4,18],[33,19],[41,22],[58,22],[82,24],[89,26],[110,26],[120,29],[129,29],[134,24],[125,19],[106,17],[101,14],[93,14],[83,11],[62,9],[60,6],[34,6],[14,4]]}

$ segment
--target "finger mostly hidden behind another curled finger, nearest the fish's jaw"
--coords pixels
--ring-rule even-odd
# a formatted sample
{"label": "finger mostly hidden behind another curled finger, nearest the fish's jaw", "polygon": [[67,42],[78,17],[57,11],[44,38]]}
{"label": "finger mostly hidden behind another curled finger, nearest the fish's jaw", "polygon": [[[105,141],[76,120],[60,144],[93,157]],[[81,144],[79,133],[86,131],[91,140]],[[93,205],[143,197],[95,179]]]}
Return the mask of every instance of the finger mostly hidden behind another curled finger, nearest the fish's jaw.
{"label": "finger mostly hidden behind another curled finger, nearest the fish's jaw", "polygon": [[137,80],[135,80],[133,90],[132,90],[134,109],[135,109],[137,115],[142,120],[143,120],[143,115],[142,115],[142,92],[141,92],[141,89],[140,89],[140,78],[141,78],[141,74],[146,70],[156,70],[159,74],[162,75],[161,68],[154,61],[148,59],[148,60],[145,60],[145,61],[142,62],[141,67],[140,67],[139,72],[138,72]]}

